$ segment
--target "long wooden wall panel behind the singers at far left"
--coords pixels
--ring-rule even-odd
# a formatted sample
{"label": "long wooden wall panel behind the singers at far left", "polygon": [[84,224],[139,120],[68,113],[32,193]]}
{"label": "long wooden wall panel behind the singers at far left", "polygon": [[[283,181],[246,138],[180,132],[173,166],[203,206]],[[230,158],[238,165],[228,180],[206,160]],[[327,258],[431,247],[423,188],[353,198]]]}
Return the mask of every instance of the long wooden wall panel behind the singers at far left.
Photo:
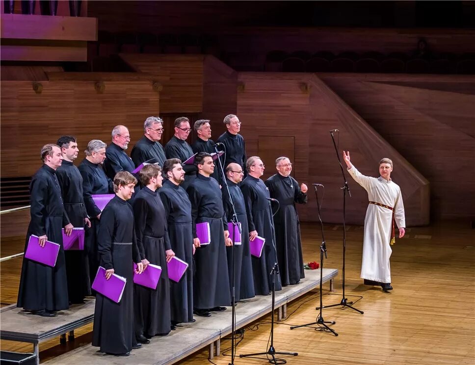
{"label": "long wooden wall panel behind the singers at far left", "polygon": [[159,113],[159,94],[151,81],[105,81],[105,92],[94,81],[43,81],[35,94],[31,82],[1,83],[1,175],[29,176],[40,166],[39,151],[61,135],[79,140],[78,163],[87,142],[110,143],[112,128],[129,127],[130,148],[143,135],[143,122]]}

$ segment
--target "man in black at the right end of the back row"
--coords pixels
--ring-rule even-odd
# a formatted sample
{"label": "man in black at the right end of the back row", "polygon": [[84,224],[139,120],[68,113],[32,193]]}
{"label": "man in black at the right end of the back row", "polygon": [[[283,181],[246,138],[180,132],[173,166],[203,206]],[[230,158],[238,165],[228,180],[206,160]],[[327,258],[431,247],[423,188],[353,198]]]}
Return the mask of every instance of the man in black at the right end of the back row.
{"label": "man in black at the right end of the back row", "polygon": [[[224,160],[223,166],[228,166],[234,162],[244,170],[244,176],[246,176],[246,150],[244,138],[238,134],[241,130],[241,122],[236,115],[229,114],[224,117],[224,124],[226,125],[227,131],[219,136],[217,140],[218,143],[223,143],[226,148],[226,158],[221,158],[221,161]],[[225,176],[220,176],[221,185],[223,185],[222,182],[224,178]]]}

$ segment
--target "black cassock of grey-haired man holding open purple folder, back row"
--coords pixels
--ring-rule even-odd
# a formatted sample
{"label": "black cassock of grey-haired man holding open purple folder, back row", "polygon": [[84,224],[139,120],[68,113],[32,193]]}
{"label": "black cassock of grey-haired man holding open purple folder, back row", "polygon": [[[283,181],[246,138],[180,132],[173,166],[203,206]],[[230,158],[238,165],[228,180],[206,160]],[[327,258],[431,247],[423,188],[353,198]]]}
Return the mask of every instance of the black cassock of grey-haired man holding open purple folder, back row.
{"label": "black cassock of grey-haired man holding open purple folder, back row", "polygon": [[92,195],[111,194],[113,191],[112,181],[107,178],[100,164],[93,164],[87,159],[82,160],[78,166],[82,176],[82,195],[86,213],[91,221],[91,227],[85,228],[84,250],[89,261],[89,278],[92,284],[99,267],[99,252],[97,250],[97,235],[99,233],[99,220],[97,216],[101,213],[92,199]]}

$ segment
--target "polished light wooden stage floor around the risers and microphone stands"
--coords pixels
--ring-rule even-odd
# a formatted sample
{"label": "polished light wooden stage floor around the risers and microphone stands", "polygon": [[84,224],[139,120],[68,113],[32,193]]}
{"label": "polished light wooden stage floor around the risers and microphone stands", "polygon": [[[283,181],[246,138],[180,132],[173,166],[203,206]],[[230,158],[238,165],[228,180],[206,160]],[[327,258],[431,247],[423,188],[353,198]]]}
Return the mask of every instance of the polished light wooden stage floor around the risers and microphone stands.
{"label": "polished light wooden stage floor around the risers and microphone stands", "polygon": [[[341,226],[325,225],[328,259],[325,268],[342,265]],[[473,365],[475,364],[475,230],[468,223],[442,222],[428,227],[410,228],[397,240],[391,259],[394,291],[383,293],[379,287],[362,284],[359,279],[363,228],[347,226],[346,297],[356,301],[355,308],[323,309],[325,320],[336,321],[332,328],[338,337],[313,328],[291,330],[316,320],[318,293],[310,292],[290,303],[288,317],[275,326],[276,351],[295,351],[285,357],[288,364],[299,365]],[[302,224],[304,261],[318,261],[321,241],[317,224]],[[23,251],[24,241],[6,240],[2,234],[1,256]],[[21,258],[1,263],[2,305],[14,303],[18,290]],[[335,294],[323,286],[323,305],[341,301],[341,275],[335,278]],[[362,297],[362,298],[361,298]],[[239,307],[238,307],[239,308]],[[270,316],[245,329],[237,354],[268,349]],[[263,323],[264,322],[264,323]],[[263,324],[259,324],[263,323]],[[255,324],[259,324],[258,328]],[[76,330],[74,343],[59,345],[55,338],[40,345],[42,362],[68,349],[90,342],[92,326]],[[81,336],[82,335],[82,336]],[[1,340],[1,349],[29,352],[31,345]],[[223,340],[221,352],[229,347]],[[226,351],[230,354],[230,351]],[[203,349],[179,364],[210,364]],[[131,364],[133,356],[130,358]],[[227,365],[228,356],[215,357],[213,363]],[[235,364],[267,364],[266,360],[236,358]]]}

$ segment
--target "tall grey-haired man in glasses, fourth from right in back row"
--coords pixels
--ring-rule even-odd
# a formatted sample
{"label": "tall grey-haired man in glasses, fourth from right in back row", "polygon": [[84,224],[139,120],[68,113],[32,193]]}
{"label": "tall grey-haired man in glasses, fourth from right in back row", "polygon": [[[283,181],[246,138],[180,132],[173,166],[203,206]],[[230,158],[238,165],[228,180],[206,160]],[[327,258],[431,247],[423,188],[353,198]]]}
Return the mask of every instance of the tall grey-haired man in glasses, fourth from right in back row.
{"label": "tall grey-haired man in glasses, fourth from right in back row", "polygon": [[149,116],[143,124],[143,132],[144,136],[133,146],[131,152],[135,167],[155,158],[158,165],[163,168],[166,160],[165,150],[158,142],[163,134],[163,120],[158,116]]}

